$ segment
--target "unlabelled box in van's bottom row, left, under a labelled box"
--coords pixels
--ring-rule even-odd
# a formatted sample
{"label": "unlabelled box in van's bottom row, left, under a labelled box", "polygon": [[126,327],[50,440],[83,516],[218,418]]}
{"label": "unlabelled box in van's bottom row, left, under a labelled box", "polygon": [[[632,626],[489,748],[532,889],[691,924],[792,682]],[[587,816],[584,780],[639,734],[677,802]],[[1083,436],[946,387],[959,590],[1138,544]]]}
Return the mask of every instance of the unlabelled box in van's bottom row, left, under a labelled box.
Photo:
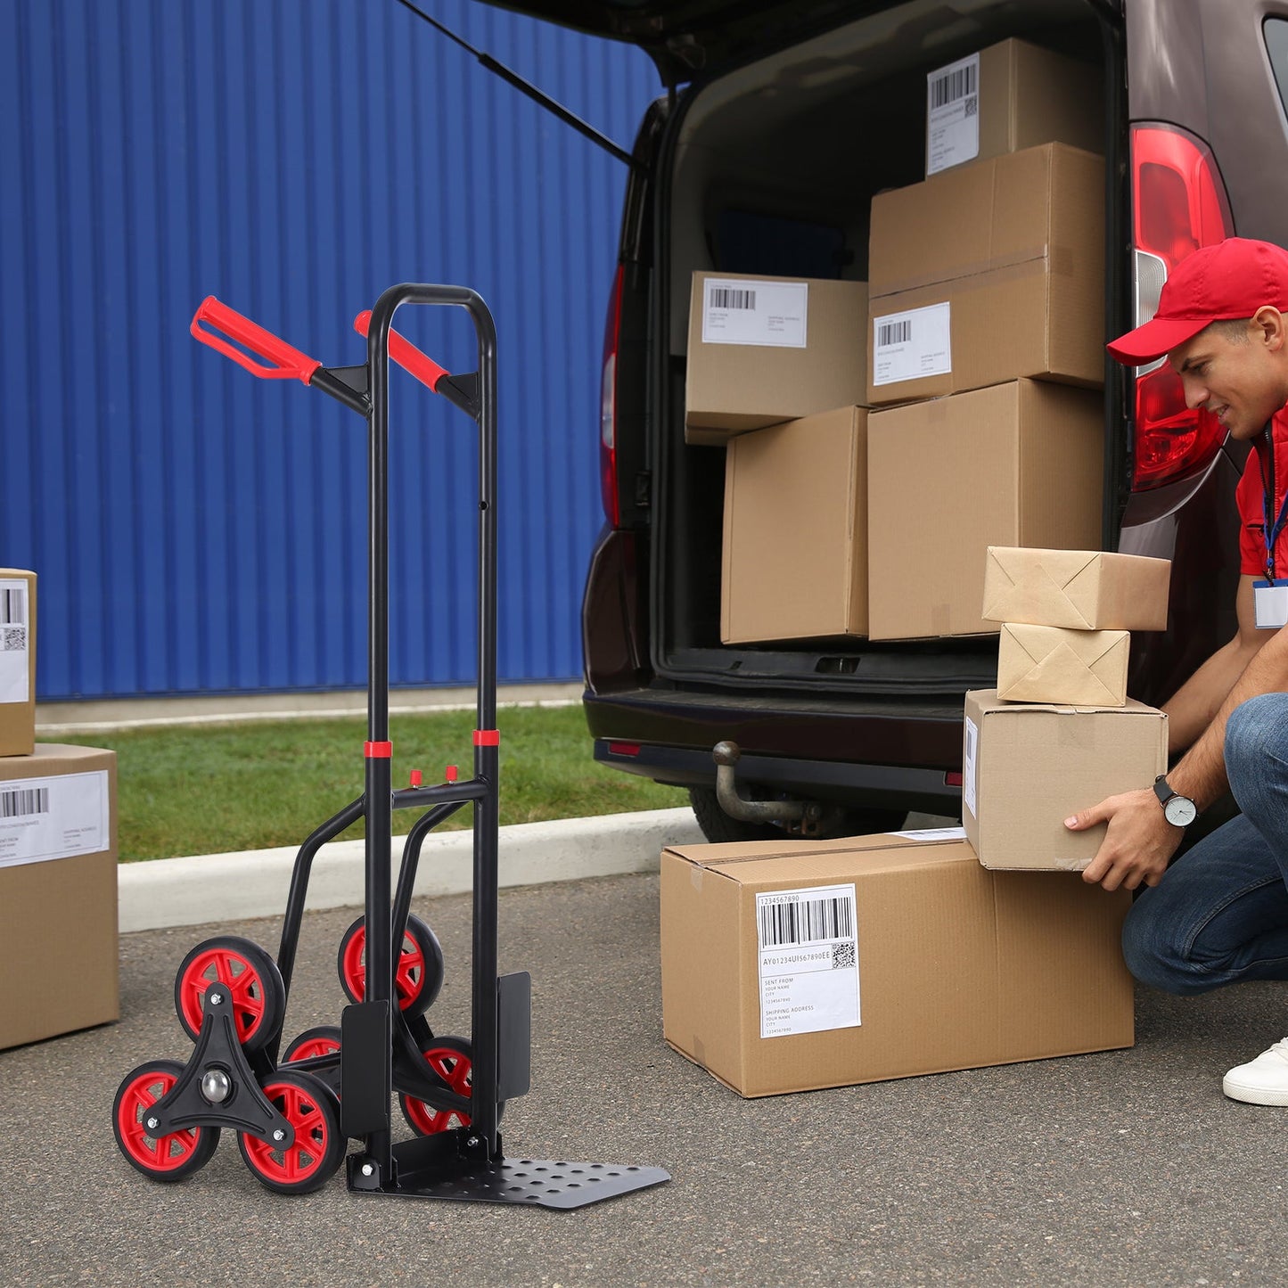
{"label": "unlabelled box in van's bottom row, left, under a labelled box", "polygon": [[725,644],[867,634],[867,421],[841,407],[729,440]]}

